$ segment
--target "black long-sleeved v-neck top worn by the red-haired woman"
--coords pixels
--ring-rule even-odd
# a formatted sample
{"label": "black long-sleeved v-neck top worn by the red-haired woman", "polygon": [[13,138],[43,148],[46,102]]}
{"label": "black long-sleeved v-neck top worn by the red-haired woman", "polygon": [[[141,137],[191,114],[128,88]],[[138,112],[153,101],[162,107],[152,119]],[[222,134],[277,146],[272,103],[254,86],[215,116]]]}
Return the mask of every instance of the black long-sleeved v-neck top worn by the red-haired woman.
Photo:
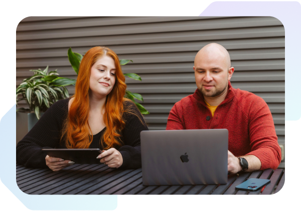
{"label": "black long-sleeved v-neck top worn by the red-haired woman", "polygon": [[[45,160],[46,154],[41,149],[66,148],[63,140],[60,143],[60,138],[63,122],[68,115],[69,100],[70,98],[59,100],[50,106],[36,125],[19,141],[17,144],[18,163],[26,167],[48,168]],[[133,102],[127,103],[133,104]],[[148,130],[143,116],[134,104],[131,110],[140,116],[143,123],[136,115],[123,114],[125,127],[121,131],[120,137],[123,145],[115,147],[122,155],[123,163],[119,167],[122,169],[141,167],[140,132]],[[106,127],[93,135],[93,141],[89,148],[102,149],[100,138],[105,130]]]}

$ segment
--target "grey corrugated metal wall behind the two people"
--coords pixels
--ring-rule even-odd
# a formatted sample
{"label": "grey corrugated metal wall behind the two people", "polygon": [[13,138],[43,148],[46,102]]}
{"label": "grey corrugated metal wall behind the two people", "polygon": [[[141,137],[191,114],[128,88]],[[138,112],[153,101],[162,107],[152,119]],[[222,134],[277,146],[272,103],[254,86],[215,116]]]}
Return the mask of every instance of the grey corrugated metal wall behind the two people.
{"label": "grey corrugated metal wall behind the two people", "polygon": [[[68,48],[84,54],[107,46],[133,60],[122,70],[142,81],[127,78],[128,90],[142,95],[149,129],[164,130],[173,105],[196,90],[194,58],[209,43],[228,50],[232,86],[265,100],[285,144],[284,27],[273,17],[27,17],[16,30],[16,87],[33,75],[30,69],[47,65],[76,79]],[[73,86],[68,90],[74,94]]]}

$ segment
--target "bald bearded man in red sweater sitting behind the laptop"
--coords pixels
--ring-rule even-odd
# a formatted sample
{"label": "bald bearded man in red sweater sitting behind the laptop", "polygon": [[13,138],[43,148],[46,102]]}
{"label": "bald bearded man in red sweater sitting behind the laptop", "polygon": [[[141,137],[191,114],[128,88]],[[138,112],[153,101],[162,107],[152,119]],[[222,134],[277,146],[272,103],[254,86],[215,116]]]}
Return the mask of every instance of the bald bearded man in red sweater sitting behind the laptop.
{"label": "bald bearded man in red sweater sitting behind the laptop", "polygon": [[198,88],[174,105],[166,129],[226,128],[229,173],[276,169],[281,150],[271,112],[262,98],[231,86],[228,51],[216,43],[206,45],[193,69]]}

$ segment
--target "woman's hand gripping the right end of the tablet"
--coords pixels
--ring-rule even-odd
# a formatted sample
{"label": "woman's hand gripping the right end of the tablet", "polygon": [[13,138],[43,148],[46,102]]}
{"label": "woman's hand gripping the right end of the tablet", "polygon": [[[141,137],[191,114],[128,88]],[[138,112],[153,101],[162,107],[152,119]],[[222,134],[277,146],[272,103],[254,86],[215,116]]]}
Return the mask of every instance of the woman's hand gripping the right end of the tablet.
{"label": "woman's hand gripping the right end of the tablet", "polygon": [[108,165],[110,168],[119,168],[123,163],[121,153],[115,148],[102,150],[102,153],[97,158],[101,158],[100,162]]}

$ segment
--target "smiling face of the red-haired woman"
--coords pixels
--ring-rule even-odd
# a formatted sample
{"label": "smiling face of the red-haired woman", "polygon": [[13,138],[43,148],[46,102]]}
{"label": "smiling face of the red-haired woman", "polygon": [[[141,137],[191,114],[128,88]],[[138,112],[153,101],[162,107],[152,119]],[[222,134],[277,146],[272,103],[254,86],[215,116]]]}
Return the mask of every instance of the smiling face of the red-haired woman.
{"label": "smiling face of the red-haired woman", "polygon": [[91,68],[90,90],[95,97],[105,97],[115,84],[115,62],[111,57],[103,56]]}

